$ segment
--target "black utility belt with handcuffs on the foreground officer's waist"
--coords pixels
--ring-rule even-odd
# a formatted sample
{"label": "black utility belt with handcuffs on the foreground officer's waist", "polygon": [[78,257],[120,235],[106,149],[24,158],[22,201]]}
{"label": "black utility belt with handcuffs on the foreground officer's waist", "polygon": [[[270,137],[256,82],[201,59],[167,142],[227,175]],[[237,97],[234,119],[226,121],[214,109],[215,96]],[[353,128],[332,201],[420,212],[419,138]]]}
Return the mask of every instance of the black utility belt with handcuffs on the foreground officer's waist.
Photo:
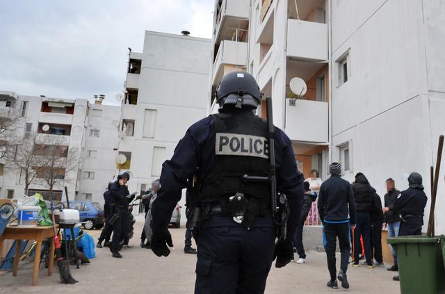
{"label": "black utility belt with handcuffs on the foreground officer's waist", "polygon": [[270,213],[268,204],[264,200],[249,197],[243,193],[233,196],[220,197],[209,202],[203,202],[190,209],[186,227],[194,236],[206,220],[210,220],[212,214],[227,215],[237,224],[250,229],[257,216]]}

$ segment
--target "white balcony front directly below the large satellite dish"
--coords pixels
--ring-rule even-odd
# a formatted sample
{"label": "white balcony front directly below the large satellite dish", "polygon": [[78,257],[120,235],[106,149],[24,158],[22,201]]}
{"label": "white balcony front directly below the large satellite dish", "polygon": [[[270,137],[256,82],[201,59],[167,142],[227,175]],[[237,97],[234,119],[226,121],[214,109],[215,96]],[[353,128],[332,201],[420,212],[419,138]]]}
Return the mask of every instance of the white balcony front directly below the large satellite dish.
{"label": "white balcony front directly below the large satellite dish", "polygon": [[328,138],[327,102],[286,99],[286,134],[293,141],[325,143]]}

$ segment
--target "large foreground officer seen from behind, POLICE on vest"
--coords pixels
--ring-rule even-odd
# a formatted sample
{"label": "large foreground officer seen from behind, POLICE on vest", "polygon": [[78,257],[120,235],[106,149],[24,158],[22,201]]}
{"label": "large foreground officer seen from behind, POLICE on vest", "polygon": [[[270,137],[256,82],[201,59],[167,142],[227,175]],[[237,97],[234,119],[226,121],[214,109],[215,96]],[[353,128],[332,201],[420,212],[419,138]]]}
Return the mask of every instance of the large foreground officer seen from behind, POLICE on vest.
{"label": "large foreground officer seen from behind, POLICE on vest", "polygon": [[[216,102],[220,113],[193,124],[163,163],[161,189],[152,207],[152,250],[157,256],[170,254],[170,216],[188,179],[197,174],[199,189],[191,208],[201,211],[195,293],[264,293],[275,247],[270,183],[250,181],[270,175],[267,124],[254,115],[261,92],[253,76],[232,72],[218,85]],[[287,237],[275,250],[275,266],[282,267],[293,259],[291,239],[300,220],[303,177],[289,138],[278,128],[271,136],[277,190],[286,194],[290,208]]]}

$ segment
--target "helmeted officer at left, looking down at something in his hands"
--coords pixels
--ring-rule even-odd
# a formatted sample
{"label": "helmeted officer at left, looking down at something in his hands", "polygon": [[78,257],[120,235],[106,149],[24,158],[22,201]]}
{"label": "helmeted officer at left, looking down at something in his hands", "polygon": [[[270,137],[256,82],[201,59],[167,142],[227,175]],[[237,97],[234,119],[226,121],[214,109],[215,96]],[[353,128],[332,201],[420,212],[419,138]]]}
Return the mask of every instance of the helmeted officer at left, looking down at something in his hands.
{"label": "helmeted officer at left, looking down at something in his hands", "polygon": [[120,241],[124,234],[130,229],[128,205],[133,200],[134,195],[130,195],[127,188],[127,181],[130,179],[128,172],[121,172],[118,175],[118,180],[111,184],[111,203],[115,207],[114,215],[117,216],[113,222],[113,238],[111,240],[110,251],[113,257],[122,258],[120,255]]}

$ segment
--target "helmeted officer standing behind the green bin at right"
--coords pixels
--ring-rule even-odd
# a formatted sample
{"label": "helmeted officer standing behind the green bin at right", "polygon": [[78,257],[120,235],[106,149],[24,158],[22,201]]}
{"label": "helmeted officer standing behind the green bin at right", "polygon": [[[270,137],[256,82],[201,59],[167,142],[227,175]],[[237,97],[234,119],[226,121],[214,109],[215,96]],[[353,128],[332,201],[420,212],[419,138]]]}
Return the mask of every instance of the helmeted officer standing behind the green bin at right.
{"label": "helmeted officer standing behind the green bin at right", "polygon": [[[428,198],[423,192],[422,176],[417,172],[412,172],[408,177],[410,188],[402,191],[397,196],[394,204],[383,208],[383,212],[394,211],[401,214],[401,228],[398,236],[421,235],[423,226],[423,212]],[[394,281],[399,280],[399,276],[393,277]]]}

